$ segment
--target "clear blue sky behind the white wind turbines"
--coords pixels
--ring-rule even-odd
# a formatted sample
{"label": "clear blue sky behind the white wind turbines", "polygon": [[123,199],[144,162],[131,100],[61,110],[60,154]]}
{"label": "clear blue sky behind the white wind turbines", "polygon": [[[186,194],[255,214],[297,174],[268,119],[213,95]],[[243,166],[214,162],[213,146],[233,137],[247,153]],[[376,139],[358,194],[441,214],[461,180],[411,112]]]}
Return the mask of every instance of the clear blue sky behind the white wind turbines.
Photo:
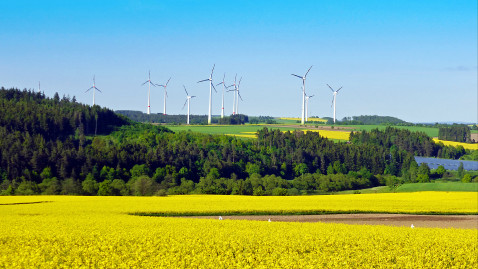
{"label": "clear blue sky behind the white wind turbines", "polygon": [[[300,117],[308,67],[311,116],[477,121],[477,1],[0,1],[0,86],[76,96],[146,112],[151,80],[168,87],[168,114],[186,85],[207,114],[209,76],[243,77],[239,112]],[[219,88],[218,88],[219,90]],[[151,111],[163,111],[162,88]],[[220,114],[221,94],[213,95]],[[226,114],[232,112],[226,94]]]}

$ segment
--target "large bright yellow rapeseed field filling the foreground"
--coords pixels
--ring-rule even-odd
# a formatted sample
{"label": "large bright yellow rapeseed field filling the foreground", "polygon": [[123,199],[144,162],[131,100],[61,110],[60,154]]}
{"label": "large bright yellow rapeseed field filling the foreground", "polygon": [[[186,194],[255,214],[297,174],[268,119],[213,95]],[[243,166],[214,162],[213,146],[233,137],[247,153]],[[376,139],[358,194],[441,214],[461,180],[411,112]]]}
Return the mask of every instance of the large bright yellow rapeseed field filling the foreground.
{"label": "large bright yellow rapeseed field filling the foreground", "polygon": [[[0,197],[0,268],[476,268],[476,230],[126,213],[477,213],[477,198],[476,193],[438,192],[307,197]],[[32,203],[41,201],[45,202]]]}

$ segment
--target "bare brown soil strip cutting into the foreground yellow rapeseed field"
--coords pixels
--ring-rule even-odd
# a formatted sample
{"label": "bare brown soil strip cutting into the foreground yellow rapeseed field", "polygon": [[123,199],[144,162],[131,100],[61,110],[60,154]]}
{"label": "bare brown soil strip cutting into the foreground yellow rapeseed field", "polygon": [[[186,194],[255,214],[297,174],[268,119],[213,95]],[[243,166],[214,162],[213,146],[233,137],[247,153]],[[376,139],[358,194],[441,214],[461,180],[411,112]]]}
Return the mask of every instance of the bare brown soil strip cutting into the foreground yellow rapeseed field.
{"label": "bare brown soil strip cutting into the foreground yellow rapeseed field", "polygon": [[[219,219],[219,216],[194,216],[186,218]],[[275,216],[222,216],[223,220],[256,220],[282,222],[326,222],[344,224],[367,224],[478,229],[478,215],[406,215],[406,214],[337,214],[337,215],[275,215]]]}

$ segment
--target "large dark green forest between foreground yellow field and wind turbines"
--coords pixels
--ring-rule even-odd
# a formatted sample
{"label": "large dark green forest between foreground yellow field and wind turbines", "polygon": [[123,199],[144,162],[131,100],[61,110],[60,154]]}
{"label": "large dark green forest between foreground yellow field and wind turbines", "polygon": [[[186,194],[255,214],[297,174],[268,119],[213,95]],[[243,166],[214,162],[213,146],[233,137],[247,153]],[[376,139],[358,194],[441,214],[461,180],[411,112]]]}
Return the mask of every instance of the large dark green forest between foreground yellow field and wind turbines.
{"label": "large dark green forest between foreground yellow field and wind turbines", "polygon": [[257,139],[174,133],[74,97],[17,89],[0,89],[0,107],[2,194],[325,193],[397,177],[427,182],[430,170],[414,156],[468,153],[391,127],[352,133],[349,143],[268,128]]}

